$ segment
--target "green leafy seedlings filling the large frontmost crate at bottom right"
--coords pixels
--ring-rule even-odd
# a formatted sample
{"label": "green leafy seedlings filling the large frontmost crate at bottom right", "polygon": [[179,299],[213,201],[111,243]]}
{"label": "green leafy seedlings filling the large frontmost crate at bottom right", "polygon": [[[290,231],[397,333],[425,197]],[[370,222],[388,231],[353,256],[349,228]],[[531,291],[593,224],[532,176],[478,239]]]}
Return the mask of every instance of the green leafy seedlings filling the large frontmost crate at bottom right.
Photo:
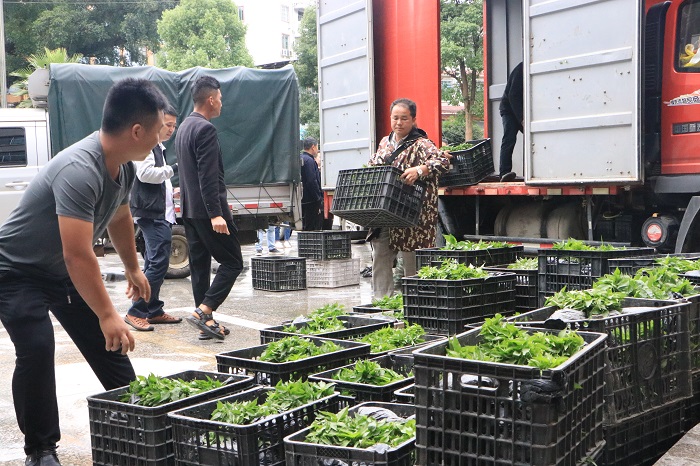
{"label": "green leafy seedlings filling the large frontmost crate at bottom right", "polygon": [[479,335],[482,342],[469,346],[462,346],[456,337],[450,338],[446,348],[447,356],[533,366],[544,370],[563,364],[585,345],[583,338],[574,331],[530,334],[507,323],[500,314],[486,319]]}

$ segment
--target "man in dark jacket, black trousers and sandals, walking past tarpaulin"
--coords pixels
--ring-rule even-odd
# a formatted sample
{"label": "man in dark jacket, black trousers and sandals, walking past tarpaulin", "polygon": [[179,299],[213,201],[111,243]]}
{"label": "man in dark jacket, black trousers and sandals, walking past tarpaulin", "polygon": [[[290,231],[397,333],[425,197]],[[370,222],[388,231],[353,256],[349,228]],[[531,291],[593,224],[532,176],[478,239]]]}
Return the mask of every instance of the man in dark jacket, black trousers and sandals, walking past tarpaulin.
{"label": "man in dark jacket, black trousers and sandals, walking past tarpaulin", "polygon": [[[192,100],[194,111],[182,122],[175,137],[182,219],[197,306],[187,321],[200,329],[200,338],[223,340],[228,329],[220,326],[212,314],[243,270],[243,257],[226,199],[219,139],[210,122],[221,114],[219,81],[211,76],[197,78],[192,86]],[[210,282],[212,256],[220,266]]]}

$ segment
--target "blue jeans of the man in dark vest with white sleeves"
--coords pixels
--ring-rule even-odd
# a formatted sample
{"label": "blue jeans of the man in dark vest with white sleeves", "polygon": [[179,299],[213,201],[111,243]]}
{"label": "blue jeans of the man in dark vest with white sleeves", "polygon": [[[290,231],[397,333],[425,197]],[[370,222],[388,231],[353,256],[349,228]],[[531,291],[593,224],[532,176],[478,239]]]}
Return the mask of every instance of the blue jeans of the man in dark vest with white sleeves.
{"label": "blue jeans of the man in dark vest with white sleeves", "polygon": [[143,298],[134,301],[127,314],[152,319],[163,315],[163,301],[160,300],[160,287],[165,280],[165,274],[170,265],[170,249],[172,248],[172,225],[165,219],[140,218],[136,224],[143,232],[146,243],[146,254],[143,261],[143,273],[151,285],[151,299],[146,302]]}

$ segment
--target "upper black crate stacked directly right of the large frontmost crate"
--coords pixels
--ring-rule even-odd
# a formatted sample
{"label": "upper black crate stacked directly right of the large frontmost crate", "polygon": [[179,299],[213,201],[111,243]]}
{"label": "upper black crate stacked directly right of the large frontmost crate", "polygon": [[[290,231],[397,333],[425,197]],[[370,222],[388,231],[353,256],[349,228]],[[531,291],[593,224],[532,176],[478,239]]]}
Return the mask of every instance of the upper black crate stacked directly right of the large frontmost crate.
{"label": "upper black crate stacked directly right of the large frontmost crate", "polygon": [[[628,298],[624,307],[656,308],[571,322],[572,328],[608,335],[605,364],[605,425],[692,394],[687,303]],[[511,317],[513,323],[544,327],[554,306]],[[566,324],[553,321],[550,328]]]}

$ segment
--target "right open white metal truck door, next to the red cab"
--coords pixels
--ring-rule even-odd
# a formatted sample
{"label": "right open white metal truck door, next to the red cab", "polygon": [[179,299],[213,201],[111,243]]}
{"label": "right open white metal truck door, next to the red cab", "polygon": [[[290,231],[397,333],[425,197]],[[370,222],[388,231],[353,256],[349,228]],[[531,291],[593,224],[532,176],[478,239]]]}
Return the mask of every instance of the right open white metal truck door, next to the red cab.
{"label": "right open white metal truck door, next to the red cab", "polygon": [[639,0],[525,2],[526,182],[642,180],[643,8]]}

